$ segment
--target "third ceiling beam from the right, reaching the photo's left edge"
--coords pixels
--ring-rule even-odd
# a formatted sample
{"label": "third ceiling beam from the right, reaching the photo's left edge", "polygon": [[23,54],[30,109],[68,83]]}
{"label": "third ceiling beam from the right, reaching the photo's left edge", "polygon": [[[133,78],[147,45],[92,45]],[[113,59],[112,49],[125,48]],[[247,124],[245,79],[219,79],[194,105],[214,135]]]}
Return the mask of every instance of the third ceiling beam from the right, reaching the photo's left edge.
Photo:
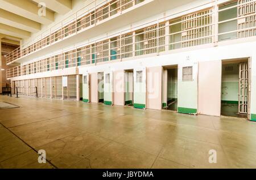
{"label": "third ceiling beam from the right, reaching the photo's left edge", "polygon": [[41,29],[40,23],[23,18],[22,16],[13,14],[3,9],[0,9],[0,23],[33,33],[39,32]]}

